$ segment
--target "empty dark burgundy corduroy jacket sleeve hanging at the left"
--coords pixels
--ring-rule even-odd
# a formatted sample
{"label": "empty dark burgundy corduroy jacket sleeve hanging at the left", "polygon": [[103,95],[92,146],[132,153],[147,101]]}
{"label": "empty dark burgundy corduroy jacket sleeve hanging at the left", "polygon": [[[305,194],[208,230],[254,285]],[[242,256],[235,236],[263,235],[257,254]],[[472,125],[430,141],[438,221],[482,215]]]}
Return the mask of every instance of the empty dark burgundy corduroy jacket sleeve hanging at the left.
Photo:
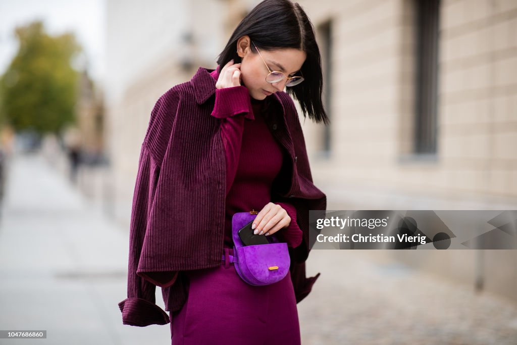
{"label": "empty dark burgundy corduroy jacket sleeve hanging at the left", "polygon": [[140,152],[131,210],[127,298],[118,303],[123,324],[131,326],[164,325],[170,322],[168,314],[156,305],[155,292],[156,286],[171,286],[178,272],[137,273],[159,171],[159,164],[151,157],[144,142]]}

